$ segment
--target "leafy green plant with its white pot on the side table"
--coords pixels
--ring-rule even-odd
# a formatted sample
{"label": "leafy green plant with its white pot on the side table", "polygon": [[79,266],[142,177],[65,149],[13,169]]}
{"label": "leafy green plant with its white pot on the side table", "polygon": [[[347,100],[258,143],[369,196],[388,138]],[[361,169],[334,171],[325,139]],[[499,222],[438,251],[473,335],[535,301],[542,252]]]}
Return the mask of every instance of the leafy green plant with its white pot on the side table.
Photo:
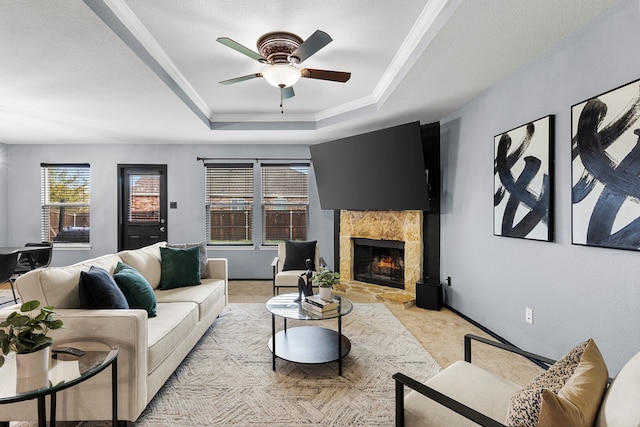
{"label": "leafy green plant with its white pot on the side table", "polygon": [[53,307],[43,307],[39,314],[32,314],[38,307],[40,301],[25,302],[20,312],[14,311],[0,322],[0,367],[4,365],[5,356],[15,351],[18,377],[37,375],[47,369],[49,347],[53,344],[47,334],[62,327],[62,320],[53,318]]}

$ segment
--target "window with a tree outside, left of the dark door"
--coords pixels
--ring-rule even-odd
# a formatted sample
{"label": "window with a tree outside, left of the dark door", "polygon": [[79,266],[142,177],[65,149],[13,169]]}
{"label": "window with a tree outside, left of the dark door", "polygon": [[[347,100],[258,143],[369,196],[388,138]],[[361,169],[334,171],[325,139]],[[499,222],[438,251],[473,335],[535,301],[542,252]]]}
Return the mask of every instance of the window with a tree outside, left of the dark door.
{"label": "window with a tree outside, left of the dark door", "polygon": [[89,164],[40,165],[42,241],[89,243]]}

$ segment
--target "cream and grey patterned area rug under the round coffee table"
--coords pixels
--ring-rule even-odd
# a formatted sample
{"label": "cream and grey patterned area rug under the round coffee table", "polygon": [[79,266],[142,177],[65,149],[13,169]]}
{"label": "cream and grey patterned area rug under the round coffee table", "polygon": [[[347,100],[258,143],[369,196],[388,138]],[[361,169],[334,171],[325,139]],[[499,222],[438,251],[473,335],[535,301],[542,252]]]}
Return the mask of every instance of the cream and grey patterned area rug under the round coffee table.
{"label": "cream and grey patterned area rug under the round coffee table", "polygon": [[[323,323],[337,326],[336,320]],[[288,327],[308,324],[289,321]],[[426,380],[440,366],[384,304],[354,304],[342,327],[352,344],[342,376],[335,362],[277,359],[273,372],[270,313],[264,304],[229,304],[136,426],[394,425],[391,375]]]}

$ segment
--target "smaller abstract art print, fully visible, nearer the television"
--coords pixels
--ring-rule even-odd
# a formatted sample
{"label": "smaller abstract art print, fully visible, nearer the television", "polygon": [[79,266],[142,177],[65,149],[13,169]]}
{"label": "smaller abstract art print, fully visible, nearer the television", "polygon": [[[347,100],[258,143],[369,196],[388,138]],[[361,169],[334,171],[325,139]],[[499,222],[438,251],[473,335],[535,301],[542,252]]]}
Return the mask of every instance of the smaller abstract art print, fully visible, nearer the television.
{"label": "smaller abstract art print, fully visible, nearer the television", "polygon": [[553,240],[553,136],[549,115],[494,138],[494,235]]}

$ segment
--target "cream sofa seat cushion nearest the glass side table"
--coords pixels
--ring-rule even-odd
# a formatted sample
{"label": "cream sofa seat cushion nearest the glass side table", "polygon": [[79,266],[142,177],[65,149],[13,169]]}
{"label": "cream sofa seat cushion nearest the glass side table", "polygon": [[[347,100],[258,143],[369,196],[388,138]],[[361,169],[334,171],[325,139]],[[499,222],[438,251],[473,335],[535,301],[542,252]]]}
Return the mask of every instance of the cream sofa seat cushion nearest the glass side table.
{"label": "cream sofa seat cushion nearest the glass side table", "polygon": [[158,315],[149,318],[148,374],[180,345],[198,323],[198,306],[189,302],[158,303]]}

